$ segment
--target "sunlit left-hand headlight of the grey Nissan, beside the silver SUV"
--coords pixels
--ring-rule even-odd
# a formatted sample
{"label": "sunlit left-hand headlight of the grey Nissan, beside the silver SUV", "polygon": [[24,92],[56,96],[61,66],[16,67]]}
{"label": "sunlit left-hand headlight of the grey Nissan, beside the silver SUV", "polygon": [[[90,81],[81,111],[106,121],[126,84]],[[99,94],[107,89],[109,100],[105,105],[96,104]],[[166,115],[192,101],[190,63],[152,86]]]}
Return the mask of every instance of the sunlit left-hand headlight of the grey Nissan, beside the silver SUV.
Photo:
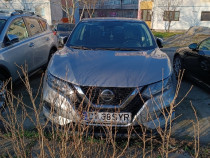
{"label": "sunlit left-hand headlight of the grey Nissan, beside the silver SUV", "polygon": [[65,94],[65,95],[74,94],[74,91],[72,90],[72,88],[68,82],[53,76],[49,72],[47,73],[47,83],[51,88],[57,90],[58,92]]}

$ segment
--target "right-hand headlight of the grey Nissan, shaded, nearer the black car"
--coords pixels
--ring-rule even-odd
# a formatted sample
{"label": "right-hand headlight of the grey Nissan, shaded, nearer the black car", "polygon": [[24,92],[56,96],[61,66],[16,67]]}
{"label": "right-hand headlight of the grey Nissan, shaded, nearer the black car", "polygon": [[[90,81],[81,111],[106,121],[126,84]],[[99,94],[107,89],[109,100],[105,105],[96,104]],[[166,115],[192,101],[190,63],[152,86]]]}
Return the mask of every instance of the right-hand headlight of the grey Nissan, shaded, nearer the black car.
{"label": "right-hand headlight of the grey Nissan, shaded, nearer the black car", "polygon": [[151,96],[162,93],[171,87],[171,77],[165,80],[149,85],[144,91],[143,95],[150,98]]}

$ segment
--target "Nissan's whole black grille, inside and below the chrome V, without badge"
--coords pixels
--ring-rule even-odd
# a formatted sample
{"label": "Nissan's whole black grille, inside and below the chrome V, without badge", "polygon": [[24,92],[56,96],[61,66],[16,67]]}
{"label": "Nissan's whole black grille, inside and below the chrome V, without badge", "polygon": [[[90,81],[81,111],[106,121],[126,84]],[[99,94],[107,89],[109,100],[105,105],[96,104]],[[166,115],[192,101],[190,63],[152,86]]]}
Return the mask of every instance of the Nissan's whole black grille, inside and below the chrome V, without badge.
{"label": "Nissan's whole black grille, inside and below the chrome V, without badge", "polygon": [[[95,105],[105,105],[101,108],[95,108],[91,104],[88,104],[84,101],[84,98],[81,98],[79,94],[77,94],[78,100],[74,103],[75,108],[78,112],[130,112],[132,114],[132,120],[137,112],[142,108],[144,102],[147,101],[147,98],[140,97],[137,94],[130,103],[128,103],[125,107],[118,107],[117,108],[106,108],[106,105],[120,105],[124,103],[124,101],[130,97],[131,93],[135,90],[135,88],[101,88],[101,87],[80,87],[83,93],[89,98],[90,102]],[[100,92],[109,89],[113,91],[115,94],[115,98],[112,102],[104,102],[100,99],[99,95]],[[99,104],[97,104],[99,102]]]}

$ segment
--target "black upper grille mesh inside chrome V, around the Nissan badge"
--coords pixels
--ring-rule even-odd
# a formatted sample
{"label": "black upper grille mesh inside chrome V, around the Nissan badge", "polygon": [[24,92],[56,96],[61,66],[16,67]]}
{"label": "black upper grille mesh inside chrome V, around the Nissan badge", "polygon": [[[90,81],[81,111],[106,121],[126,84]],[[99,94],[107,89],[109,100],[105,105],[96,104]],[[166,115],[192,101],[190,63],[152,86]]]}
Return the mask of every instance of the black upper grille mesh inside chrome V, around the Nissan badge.
{"label": "black upper grille mesh inside chrome V, around the Nissan badge", "polygon": [[[95,105],[121,105],[127,97],[131,95],[135,88],[104,88],[104,87],[80,87],[86,97]],[[104,101],[100,97],[103,90],[109,89],[114,93],[114,98],[111,101]]]}

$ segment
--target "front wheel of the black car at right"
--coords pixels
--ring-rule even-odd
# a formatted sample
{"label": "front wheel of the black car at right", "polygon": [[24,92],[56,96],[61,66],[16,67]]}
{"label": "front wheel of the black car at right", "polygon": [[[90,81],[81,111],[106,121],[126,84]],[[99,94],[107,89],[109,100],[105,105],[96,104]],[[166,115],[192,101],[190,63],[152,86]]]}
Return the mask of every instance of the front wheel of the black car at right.
{"label": "front wheel of the black car at right", "polygon": [[174,60],[173,60],[173,69],[174,69],[174,75],[176,77],[176,79],[179,78],[179,76],[182,75],[182,73],[184,72],[183,70],[183,62],[182,62],[182,59],[179,55],[176,55],[174,57]]}

